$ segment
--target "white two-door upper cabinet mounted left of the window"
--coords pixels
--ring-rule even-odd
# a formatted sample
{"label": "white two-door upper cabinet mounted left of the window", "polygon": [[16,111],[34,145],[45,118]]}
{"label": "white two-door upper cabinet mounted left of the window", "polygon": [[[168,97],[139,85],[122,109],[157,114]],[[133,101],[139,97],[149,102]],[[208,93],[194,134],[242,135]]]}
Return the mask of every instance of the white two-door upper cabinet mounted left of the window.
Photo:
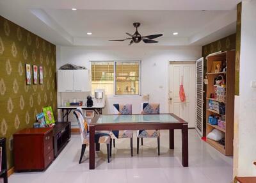
{"label": "white two-door upper cabinet mounted left of the window", "polygon": [[90,92],[88,70],[58,70],[58,92]]}

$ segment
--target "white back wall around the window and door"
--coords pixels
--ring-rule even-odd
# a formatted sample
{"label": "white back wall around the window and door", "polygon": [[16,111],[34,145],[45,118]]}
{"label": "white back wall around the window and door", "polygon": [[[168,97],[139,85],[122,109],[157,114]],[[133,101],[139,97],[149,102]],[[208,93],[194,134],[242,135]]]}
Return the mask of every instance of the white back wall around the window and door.
{"label": "white back wall around the window and door", "polygon": [[[168,61],[197,60],[202,55],[201,47],[58,46],[56,52],[57,68],[66,63],[90,68],[92,60],[141,60],[141,94],[148,93],[150,102],[159,102],[161,113],[168,112]],[[60,98],[60,95],[58,97]],[[140,113],[141,97],[108,97],[104,113],[111,113],[114,102],[132,103],[132,113]]]}

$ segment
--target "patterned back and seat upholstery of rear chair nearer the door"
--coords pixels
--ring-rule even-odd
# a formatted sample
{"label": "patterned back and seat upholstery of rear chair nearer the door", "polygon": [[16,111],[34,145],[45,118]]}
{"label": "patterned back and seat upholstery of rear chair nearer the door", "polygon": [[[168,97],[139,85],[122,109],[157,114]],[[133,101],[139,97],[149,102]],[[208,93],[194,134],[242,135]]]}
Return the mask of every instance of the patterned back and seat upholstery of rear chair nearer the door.
{"label": "patterned back and seat upholstery of rear chair nearer the door", "polygon": [[[143,115],[158,115],[160,109],[159,103],[142,103],[141,104],[141,114]],[[137,131],[138,138],[159,138],[160,131],[157,130],[140,130]]]}

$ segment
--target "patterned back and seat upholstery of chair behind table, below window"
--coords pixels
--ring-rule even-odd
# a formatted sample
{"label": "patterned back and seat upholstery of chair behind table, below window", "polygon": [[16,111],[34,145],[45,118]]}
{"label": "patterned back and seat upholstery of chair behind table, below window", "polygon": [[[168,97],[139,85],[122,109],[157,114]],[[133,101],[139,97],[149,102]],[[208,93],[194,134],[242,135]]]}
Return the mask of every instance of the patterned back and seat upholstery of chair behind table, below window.
{"label": "patterned back and seat upholstery of chair behind table, below window", "polygon": [[[114,104],[115,115],[131,115],[132,104]],[[112,131],[111,138],[132,138],[133,131]]]}

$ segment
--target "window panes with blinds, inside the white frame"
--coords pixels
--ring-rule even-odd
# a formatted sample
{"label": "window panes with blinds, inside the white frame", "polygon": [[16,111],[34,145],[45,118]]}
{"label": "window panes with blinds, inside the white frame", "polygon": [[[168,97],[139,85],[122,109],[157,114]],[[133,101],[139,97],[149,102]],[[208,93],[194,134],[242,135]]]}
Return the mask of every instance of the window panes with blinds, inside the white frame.
{"label": "window panes with blinds, inside the white frame", "polygon": [[140,94],[140,61],[92,61],[92,93],[106,95]]}

